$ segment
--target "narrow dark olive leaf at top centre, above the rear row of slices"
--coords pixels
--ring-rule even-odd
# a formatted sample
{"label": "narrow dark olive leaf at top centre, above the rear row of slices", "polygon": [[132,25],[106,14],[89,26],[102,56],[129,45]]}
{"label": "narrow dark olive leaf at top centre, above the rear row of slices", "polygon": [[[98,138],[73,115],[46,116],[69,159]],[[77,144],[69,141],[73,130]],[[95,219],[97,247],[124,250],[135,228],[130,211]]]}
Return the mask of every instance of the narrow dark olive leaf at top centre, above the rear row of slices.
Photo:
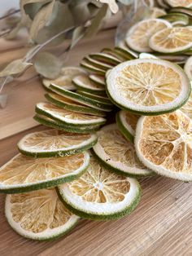
{"label": "narrow dark olive leaf at top centre, above the rear row of slices", "polygon": [[95,33],[98,32],[101,22],[107,14],[107,8],[107,4],[104,4],[103,7],[99,9],[97,15],[94,16],[94,19],[92,20],[85,34],[87,38],[92,37]]}

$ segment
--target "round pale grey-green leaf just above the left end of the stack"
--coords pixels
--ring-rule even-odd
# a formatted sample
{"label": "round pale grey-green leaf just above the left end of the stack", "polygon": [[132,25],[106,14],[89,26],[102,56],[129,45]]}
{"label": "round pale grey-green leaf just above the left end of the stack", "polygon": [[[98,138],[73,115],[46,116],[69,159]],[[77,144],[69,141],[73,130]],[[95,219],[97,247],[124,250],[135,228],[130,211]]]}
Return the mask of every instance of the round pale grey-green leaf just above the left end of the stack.
{"label": "round pale grey-green leaf just above the left end of the stack", "polygon": [[61,67],[61,61],[49,52],[44,51],[36,55],[34,68],[43,77],[55,79],[59,76]]}

